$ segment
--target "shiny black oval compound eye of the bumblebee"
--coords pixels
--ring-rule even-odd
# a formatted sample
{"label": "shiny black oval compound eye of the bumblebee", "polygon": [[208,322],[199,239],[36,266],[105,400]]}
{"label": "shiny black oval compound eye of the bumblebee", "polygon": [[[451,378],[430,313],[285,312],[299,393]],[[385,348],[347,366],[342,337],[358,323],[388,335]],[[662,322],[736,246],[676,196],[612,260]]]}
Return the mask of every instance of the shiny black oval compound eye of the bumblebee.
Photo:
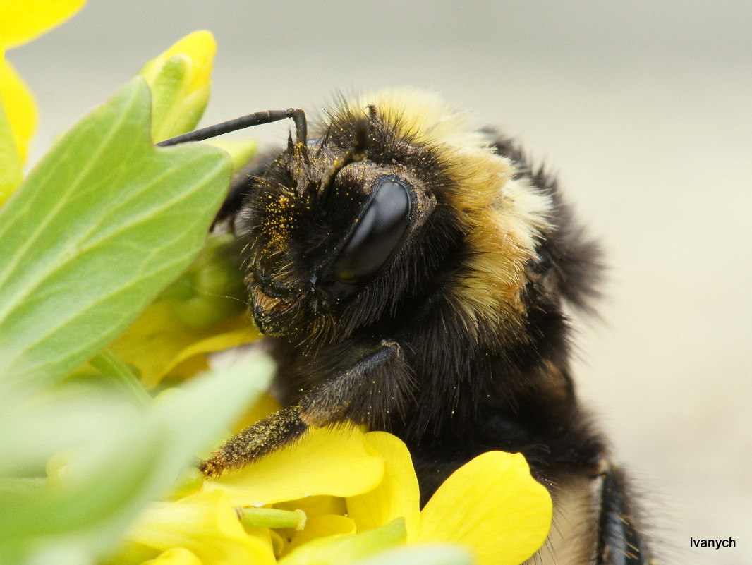
{"label": "shiny black oval compound eye of the bumblebee", "polygon": [[381,269],[402,240],[409,219],[408,188],[390,179],[376,185],[355,230],[332,266],[337,281],[358,284]]}

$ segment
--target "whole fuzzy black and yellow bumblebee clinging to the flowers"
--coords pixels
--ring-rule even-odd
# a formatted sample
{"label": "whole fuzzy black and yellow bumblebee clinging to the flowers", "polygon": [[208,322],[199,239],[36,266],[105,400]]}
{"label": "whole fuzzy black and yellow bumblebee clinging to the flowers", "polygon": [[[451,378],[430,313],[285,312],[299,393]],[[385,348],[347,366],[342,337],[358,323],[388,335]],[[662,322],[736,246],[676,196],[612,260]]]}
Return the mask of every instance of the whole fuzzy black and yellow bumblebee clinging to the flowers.
{"label": "whole fuzzy black and yellow bumblebee clinging to the flowers", "polygon": [[285,117],[296,135],[236,178],[217,222],[244,241],[286,408],[202,472],[351,421],[408,445],[426,503],[478,454],[520,452],[555,504],[535,563],[650,562],[626,478],[575,395],[566,311],[590,311],[601,261],[556,181],[417,90],[342,99],[311,141],[301,110],[226,129]]}

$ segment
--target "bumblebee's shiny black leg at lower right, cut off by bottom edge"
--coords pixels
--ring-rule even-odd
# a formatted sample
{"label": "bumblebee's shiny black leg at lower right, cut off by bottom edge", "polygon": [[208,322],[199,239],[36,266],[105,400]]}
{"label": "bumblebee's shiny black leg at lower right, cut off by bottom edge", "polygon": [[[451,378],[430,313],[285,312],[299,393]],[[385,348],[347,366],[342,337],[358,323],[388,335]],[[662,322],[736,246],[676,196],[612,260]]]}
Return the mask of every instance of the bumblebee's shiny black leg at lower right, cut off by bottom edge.
{"label": "bumblebee's shiny black leg at lower right, cut off by bottom edge", "polygon": [[623,472],[616,466],[610,466],[602,473],[601,478],[596,564],[653,563],[635,516],[635,508],[632,506]]}

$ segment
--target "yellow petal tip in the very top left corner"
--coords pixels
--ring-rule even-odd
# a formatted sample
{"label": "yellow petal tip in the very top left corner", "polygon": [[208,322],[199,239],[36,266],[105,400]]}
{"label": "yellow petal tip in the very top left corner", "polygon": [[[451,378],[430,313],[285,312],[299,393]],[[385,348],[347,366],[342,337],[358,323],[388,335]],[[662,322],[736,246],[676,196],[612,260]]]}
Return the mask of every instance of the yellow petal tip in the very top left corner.
{"label": "yellow petal tip in the very top left corner", "polygon": [[86,0],[0,0],[0,35],[5,47],[17,47],[59,26]]}

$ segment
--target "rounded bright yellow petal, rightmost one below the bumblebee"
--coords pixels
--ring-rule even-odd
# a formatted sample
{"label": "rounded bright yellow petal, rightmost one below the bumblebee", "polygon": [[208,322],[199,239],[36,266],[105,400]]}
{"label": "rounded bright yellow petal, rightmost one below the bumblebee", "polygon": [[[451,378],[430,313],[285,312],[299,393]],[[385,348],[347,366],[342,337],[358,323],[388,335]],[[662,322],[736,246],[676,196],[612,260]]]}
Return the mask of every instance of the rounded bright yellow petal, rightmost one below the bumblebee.
{"label": "rounded bright yellow petal, rightmost one below the bumblebee", "polygon": [[489,451],[457,469],[420,512],[417,542],[456,542],[479,565],[519,565],[543,545],[550,494],[522,454]]}

